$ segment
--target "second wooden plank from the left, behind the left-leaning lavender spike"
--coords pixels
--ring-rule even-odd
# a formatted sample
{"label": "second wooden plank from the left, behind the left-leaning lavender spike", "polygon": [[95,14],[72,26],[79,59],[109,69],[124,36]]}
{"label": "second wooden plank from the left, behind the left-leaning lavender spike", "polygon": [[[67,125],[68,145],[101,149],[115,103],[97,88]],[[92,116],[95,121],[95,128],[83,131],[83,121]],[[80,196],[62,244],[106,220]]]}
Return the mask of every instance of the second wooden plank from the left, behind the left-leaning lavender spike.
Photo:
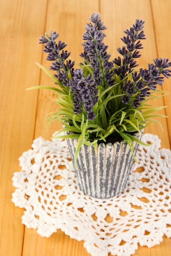
{"label": "second wooden plank from the left, behind the left-leaning lavender spike", "polygon": [[[67,49],[71,51],[71,57],[75,61],[80,61],[79,54],[82,52],[82,34],[84,26],[89,22],[91,14],[99,11],[98,0],[50,0],[48,4],[47,22],[44,32],[51,30],[60,34],[59,40],[68,44]],[[43,32],[43,33],[44,33]],[[39,38],[38,33],[38,38]],[[41,52],[39,46],[39,52]],[[45,61],[46,54],[43,54],[43,65],[49,68],[50,62]],[[34,61],[37,61],[34,58]],[[38,68],[37,68],[38,69]],[[40,84],[49,85],[51,80],[41,72]],[[38,98],[38,109],[36,117],[35,137],[42,136],[50,139],[52,134],[61,128],[57,123],[53,123],[45,128],[47,120],[44,119],[49,112],[54,111],[57,106],[52,101],[52,93],[49,90],[40,90]],[[26,229],[24,234],[23,256],[90,256],[83,246],[83,241],[71,239],[60,229],[50,238],[42,238],[33,229]]]}

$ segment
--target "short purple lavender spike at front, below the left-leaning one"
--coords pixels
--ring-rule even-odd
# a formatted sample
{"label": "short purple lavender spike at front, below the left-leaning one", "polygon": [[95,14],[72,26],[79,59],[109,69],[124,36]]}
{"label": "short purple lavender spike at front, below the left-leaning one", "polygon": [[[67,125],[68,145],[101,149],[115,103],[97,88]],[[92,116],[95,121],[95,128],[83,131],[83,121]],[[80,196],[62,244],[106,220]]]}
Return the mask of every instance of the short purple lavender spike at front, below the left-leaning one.
{"label": "short purple lavender spike at front, below the left-leaning one", "polygon": [[98,101],[98,89],[95,85],[95,79],[88,74],[84,77],[83,69],[73,71],[73,77],[69,81],[71,92],[73,92],[73,106],[75,114],[82,110],[87,112],[87,119],[94,120],[95,113],[93,107]]}

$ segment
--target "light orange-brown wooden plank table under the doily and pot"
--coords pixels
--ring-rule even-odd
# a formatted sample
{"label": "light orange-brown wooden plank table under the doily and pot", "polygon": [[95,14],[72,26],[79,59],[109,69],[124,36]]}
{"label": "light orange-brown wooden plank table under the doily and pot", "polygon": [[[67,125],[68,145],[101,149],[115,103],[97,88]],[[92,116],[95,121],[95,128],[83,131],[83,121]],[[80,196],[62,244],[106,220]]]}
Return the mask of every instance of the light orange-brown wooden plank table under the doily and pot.
{"label": "light orange-brown wooden plank table under the doily and pot", "polygon": [[[25,89],[51,81],[35,62],[49,67],[38,44],[40,34],[57,31],[68,44],[77,62],[82,52],[84,25],[93,12],[100,12],[107,26],[105,43],[114,57],[122,46],[123,31],[136,18],[145,20],[140,66],[147,67],[156,57],[171,60],[171,1],[170,0],[0,0],[0,255],[1,256],[86,256],[83,241],[71,239],[58,230],[50,238],[40,237],[36,230],[21,223],[24,209],[15,207],[11,194],[15,191],[12,176],[20,171],[18,157],[29,150],[33,139],[50,139],[61,128],[53,123],[46,128],[46,115],[56,109],[52,93],[47,90]],[[170,81],[164,90],[171,92]],[[171,147],[171,96],[154,101],[154,105],[168,106],[162,114],[164,131],[156,124],[146,132],[158,135],[163,148]],[[138,247],[134,255],[169,256],[171,239],[152,248]]]}

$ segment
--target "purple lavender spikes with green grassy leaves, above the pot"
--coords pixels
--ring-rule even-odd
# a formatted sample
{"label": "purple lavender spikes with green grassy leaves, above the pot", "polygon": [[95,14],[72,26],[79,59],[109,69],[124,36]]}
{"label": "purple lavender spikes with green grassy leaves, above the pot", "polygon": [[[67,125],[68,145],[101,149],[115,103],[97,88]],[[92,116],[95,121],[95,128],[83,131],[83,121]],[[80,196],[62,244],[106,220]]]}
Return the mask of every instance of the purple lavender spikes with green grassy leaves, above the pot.
{"label": "purple lavender spikes with green grassy leaves, above the pot", "polygon": [[[64,51],[67,46],[56,39],[59,34],[51,31],[41,36],[40,43],[45,44],[43,52],[47,53],[47,60],[52,61],[50,70],[38,64],[57,85],[36,86],[47,88],[56,94],[56,103],[60,106],[49,117],[49,122],[62,121],[68,135],[59,135],[58,138],[78,139],[76,155],[82,144],[96,146],[100,142],[108,143],[126,140],[133,153],[133,141],[143,144],[133,134],[157,122],[153,117],[162,107],[154,108],[149,100],[162,97],[166,94],[157,89],[162,85],[164,77],[171,76],[171,62],[168,58],[156,58],[148,69],[138,69],[135,59],[140,58],[139,49],[142,49],[141,40],[146,39],[143,31],[144,21],[136,20],[135,24],[124,31],[126,36],[121,40],[124,43],[118,48],[120,56],[111,60],[107,53],[108,46],[103,43],[106,29],[100,20],[100,13],[91,15],[90,23],[85,27],[83,35],[82,61],[75,68],[76,63]],[[155,92],[160,92],[156,96]],[[158,123],[159,124],[159,123]]]}

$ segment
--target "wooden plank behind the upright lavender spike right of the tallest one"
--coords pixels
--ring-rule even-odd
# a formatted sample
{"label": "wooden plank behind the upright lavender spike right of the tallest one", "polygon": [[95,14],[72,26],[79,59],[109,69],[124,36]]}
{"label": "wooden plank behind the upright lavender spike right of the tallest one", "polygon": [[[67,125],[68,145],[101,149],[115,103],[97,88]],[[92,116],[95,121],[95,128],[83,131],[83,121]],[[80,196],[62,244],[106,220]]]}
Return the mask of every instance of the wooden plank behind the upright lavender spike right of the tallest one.
{"label": "wooden plank behind the upright lavender spike right of the tallest one", "polygon": [[[162,4],[163,2],[161,2],[161,5]],[[163,8],[165,8],[164,4]],[[148,67],[148,63],[153,63],[153,59],[158,57],[158,52],[156,49],[151,4],[149,0],[108,0],[106,2],[100,1],[100,13],[102,16],[102,20],[105,21],[105,25],[108,28],[105,31],[105,34],[107,35],[105,40],[107,45],[109,45],[109,50],[113,58],[119,56],[117,48],[122,47],[123,45],[123,42],[120,40],[120,38],[125,35],[123,31],[125,29],[129,29],[132,24],[135,23],[136,18],[144,20],[144,33],[147,39],[142,41],[144,49],[140,50],[140,54],[142,56],[141,58],[138,58],[137,61],[140,67],[144,68]],[[161,20],[158,22],[161,22]],[[155,99],[153,101],[150,101],[150,103],[152,103],[153,106],[164,106],[163,98]],[[165,110],[160,111],[160,114],[165,115]],[[167,139],[169,136],[167,129],[167,120],[166,118],[157,118],[157,120],[162,123],[164,132],[160,128],[160,126],[156,125],[155,123],[151,126],[148,126],[145,132],[158,135],[159,138],[162,140],[162,147],[170,148],[170,144]]]}

